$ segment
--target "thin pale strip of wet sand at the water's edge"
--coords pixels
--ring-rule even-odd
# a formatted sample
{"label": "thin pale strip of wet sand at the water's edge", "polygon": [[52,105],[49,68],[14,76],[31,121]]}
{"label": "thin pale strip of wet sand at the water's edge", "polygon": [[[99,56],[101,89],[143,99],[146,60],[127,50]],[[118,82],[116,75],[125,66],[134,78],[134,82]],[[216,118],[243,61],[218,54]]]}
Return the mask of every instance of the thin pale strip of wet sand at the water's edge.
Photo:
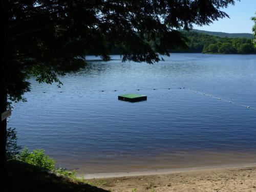
{"label": "thin pale strip of wet sand at the water's edge", "polygon": [[256,163],[244,163],[244,164],[227,164],[227,165],[214,165],[214,166],[199,166],[199,167],[186,167],[186,168],[166,168],[147,170],[141,172],[111,172],[111,173],[96,173],[96,174],[78,174],[78,178],[83,179],[107,179],[107,178],[120,178],[120,177],[137,177],[137,176],[156,176],[156,175],[168,175],[179,174],[188,172],[200,172],[208,170],[219,170],[227,168],[246,168],[256,167]]}

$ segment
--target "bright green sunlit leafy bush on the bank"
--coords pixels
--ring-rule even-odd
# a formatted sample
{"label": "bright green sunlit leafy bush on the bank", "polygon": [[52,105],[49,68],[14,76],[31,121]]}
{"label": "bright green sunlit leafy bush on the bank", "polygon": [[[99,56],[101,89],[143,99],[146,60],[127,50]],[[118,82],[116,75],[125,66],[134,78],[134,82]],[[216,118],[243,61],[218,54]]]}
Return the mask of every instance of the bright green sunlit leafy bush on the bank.
{"label": "bright green sunlit leafy bush on the bank", "polygon": [[55,166],[55,161],[46,155],[45,151],[42,149],[36,149],[29,152],[28,148],[25,147],[19,155],[19,160],[50,170],[54,169]]}

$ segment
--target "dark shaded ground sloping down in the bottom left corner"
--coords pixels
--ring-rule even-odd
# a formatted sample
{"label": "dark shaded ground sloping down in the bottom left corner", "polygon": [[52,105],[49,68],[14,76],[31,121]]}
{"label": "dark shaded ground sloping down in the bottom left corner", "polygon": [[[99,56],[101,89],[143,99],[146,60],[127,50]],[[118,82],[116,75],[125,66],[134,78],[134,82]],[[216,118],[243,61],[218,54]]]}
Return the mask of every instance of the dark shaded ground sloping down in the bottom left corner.
{"label": "dark shaded ground sloping down in the bottom left corner", "polygon": [[8,176],[1,178],[1,192],[109,191],[19,161],[8,162]]}

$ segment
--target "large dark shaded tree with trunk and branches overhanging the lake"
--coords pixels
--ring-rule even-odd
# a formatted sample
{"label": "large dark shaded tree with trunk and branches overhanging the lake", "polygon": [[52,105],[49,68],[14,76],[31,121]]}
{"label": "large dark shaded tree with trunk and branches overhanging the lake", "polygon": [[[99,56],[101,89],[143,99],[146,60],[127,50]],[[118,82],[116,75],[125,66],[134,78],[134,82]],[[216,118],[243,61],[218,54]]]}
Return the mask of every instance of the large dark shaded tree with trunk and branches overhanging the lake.
{"label": "large dark shaded tree with trunk and branches overhanging the lake", "polygon": [[[1,106],[20,101],[27,79],[59,82],[58,75],[84,66],[84,55],[159,61],[167,50],[184,47],[179,29],[189,30],[228,16],[220,8],[234,0],[0,0]],[[153,47],[155,51],[153,51]],[[59,82],[61,83],[61,82]],[[4,170],[6,120],[0,127],[0,168]]]}

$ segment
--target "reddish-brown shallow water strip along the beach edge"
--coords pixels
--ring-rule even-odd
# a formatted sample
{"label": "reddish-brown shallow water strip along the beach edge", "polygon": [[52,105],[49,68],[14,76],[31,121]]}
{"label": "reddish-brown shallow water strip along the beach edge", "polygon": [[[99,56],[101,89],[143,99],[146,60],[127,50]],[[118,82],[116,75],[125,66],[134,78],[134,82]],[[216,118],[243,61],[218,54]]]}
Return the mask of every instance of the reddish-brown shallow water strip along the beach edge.
{"label": "reddish-brown shallow water strip along the beach edge", "polygon": [[[58,162],[59,163],[59,162]],[[110,177],[109,175],[122,176],[127,174],[160,174],[173,171],[185,171],[191,168],[225,167],[237,165],[251,165],[256,163],[254,151],[244,152],[175,152],[172,154],[158,154],[148,156],[125,156],[115,158],[94,158],[82,161],[64,159],[59,167],[75,170],[79,176],[93,178],[94,176]],[[256,166],[256,165],[255,165]]]}

